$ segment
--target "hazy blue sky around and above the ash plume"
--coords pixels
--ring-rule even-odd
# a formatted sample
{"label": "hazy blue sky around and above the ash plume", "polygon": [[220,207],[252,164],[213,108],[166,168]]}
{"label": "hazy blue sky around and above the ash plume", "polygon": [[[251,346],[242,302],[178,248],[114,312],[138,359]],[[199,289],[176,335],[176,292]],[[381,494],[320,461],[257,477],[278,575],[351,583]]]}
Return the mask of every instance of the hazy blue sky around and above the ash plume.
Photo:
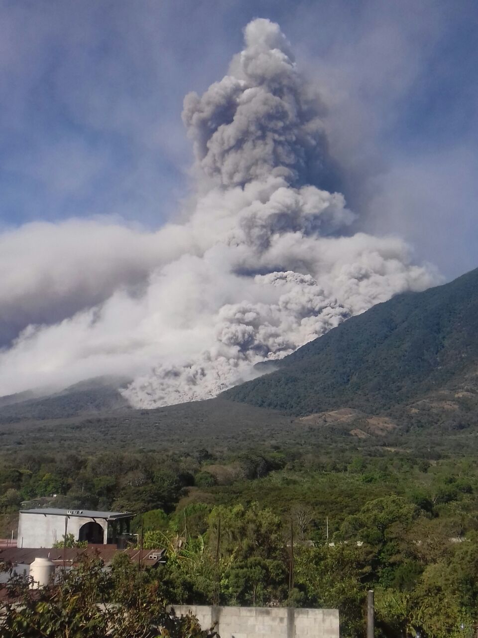
{"label": "hazy blue sky around and above the ash plume", "polygon": [[116,216],[156,228],[188,192],[182,100],[279,22],[328,104],[359,230],[451,278],[478,265],[474,0],[0,2],[0,224]]}

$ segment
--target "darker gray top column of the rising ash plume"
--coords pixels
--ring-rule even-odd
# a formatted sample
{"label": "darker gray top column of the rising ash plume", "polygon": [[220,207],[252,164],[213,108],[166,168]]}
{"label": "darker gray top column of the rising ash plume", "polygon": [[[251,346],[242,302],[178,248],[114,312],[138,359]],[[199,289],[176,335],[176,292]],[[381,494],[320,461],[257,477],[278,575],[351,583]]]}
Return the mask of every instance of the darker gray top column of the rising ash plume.
{"label": "darker gray top column of the rising ash plume", "polygon": [[254,20],[245,43],[228,76],[201,98],[185,98],[199,166],[229,188],[270,175],[307,183],[312,170],[320,175],[326,151],[318,96],[307,93],[277,24]]}

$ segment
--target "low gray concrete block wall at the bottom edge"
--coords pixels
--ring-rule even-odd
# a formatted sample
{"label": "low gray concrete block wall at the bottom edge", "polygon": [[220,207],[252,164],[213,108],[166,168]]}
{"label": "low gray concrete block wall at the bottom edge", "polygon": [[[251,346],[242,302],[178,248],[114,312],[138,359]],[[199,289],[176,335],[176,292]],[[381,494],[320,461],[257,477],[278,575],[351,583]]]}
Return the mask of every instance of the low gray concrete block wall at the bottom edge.
{"label": "low gray concrete block wall at the bottom edge", "polygon": [[217,622],[221,638],[338,638],[338,609],[173,607],[178,615],[191,611],[203,629]]}

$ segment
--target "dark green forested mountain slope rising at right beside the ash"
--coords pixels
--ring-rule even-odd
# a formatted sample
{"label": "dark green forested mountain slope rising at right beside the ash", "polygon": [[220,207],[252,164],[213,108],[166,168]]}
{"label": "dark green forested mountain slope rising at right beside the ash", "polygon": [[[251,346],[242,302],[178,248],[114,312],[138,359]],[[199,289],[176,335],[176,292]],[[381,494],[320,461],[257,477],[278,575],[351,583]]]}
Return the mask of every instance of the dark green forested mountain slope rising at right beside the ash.
{"label": "dark green forested mountain slope rising at right beside the ash", "polygon": [[224,397],[305,415],[349,406],[377,413],[437,390],[474,397],[478,269],[352,317]]}

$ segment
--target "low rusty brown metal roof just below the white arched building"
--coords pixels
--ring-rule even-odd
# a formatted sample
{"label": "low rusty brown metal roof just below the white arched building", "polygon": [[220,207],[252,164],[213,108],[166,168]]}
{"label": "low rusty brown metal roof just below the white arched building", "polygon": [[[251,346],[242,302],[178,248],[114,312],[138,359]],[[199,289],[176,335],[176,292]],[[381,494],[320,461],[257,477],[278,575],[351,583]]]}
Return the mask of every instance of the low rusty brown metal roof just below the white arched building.
{"label": "low rusty brown metal roof just below the white arched building", "polygon": [[53,547],[5,547],[0,549],[0,560],[12,565],[31,565],[35,558],[49,558],[59,565],[64,561],[67,565],[75,565],[82,556],[93,558],[98,556],[105,565],[109,565],[117,553],[126,554],[134,563],[138,563],[141,557],[141,565],[152,566],[166,562],[164,549],[118,549],[117,545],[90,544],[84,549],[76,547],[66,549],[54,549]]}

